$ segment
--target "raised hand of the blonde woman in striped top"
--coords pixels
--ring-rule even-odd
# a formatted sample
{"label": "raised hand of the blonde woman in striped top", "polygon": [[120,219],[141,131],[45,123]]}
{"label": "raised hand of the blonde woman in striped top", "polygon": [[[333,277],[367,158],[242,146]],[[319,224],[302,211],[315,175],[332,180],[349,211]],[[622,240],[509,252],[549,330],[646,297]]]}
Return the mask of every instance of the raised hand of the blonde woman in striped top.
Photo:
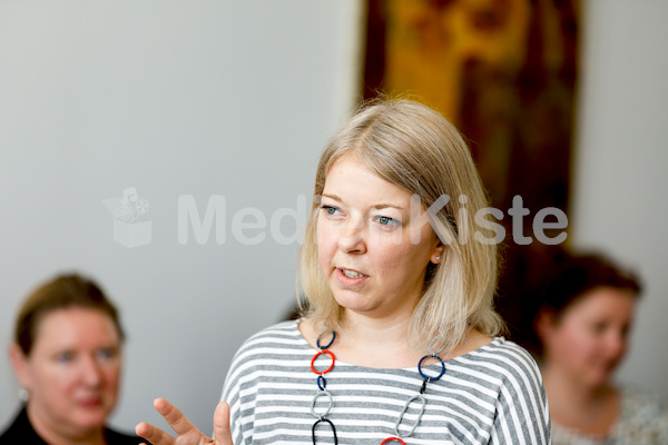
{"label": "raised hand of the blonde woman in striped top", "polygon": [[135,433],[154,445],[234,445],[229,431],[229,406],[225,402],[220,402],[214,413],[213,439],[197,429],[184,413],[164,398],[156,398],[154,407],[177,434],[177,437],[171,437],[163,429],[141,422],[135,427]]}

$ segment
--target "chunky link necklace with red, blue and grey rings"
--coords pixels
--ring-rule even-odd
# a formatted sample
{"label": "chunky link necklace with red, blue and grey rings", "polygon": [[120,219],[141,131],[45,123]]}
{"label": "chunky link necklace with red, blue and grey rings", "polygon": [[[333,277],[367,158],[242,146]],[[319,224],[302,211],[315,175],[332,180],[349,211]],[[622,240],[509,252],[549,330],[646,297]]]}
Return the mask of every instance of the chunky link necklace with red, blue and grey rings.
{"label": "chunky link necklace with red, blue and grey rings", "polygon": [[[332,421],[330,421],[327,418],[327,416],[330,415],[330,412],[332,411],[332,407],[334,406],[334,400],[332,398],[332,394],[327,390],[327,380],[325,379],[325,374],[327,374],[328,372],[334,369],[334,364],[336,363],[336,356],[334,356],[334,354],[328,349],[330,346],[332,346],[332,344],[336,339],[336,332],[332,330],[332,339],[330,340],[330,343],[327,343],[326,345],[323,346],[323,345],[321,345],[321,339],[325,334],[327,334],[327,332],[322,333],[317,337],[315,344],[317,345],[317,348],[320,350],[317,353],[315,353],[315,355],[311,359],[311,370],[317,375],[317,378],[316,378],[317,392],[315,393],[315,395],[313,396],[313,399],[311,400],[311,414],[316,418],[315,423],[311,427],[311,437],[313,438],[313,445],[316,445],[315,428],[320,424],[326,423],[330,426],[330,428],[332,429],[332,434],[334,436],[334,445],[338,445],[338,438],[336,437],[336,427],[334,426]],[[413,435],[413,433],[415,432],[415,428],[418,428],[418,425],[420,424],[420,421],[422,419],[422,415],[424,414],[424,408],[426,406],[426,399],[424,398],[424,392],[426,389],[426,384],[430,382],[436,382],[438,379],[440,379],[443,376],[443,374],[445,374],[445,363],[439,356],[439,354],[441,354],[442,352],[443,352],[443,349],[435,352],[435,353],[430,352],[428,355],[422,357],[420,359],[420,362],[418,362],[418,372],[420,373],[420,376],[423,379],[422,387],[420,388],[420,392],[418,394],[411,396],[404,404],[403,409],[399,414],[399,417],[396,418],[396,423],[394,424],[394,436],[387,437],[386,439],[381,442],[381,445],[385,445],[391,442],[397,442],[402,445],[406,445],[406,443],[403,439],[406,437],[411,437]],[[325,370],[317,370],[315,368],[315,360],[322,355],[330,356],[330,358],[332,359],[332,364]],[[422,372],[422,365],[423,365],[424,360],[426,360],[428,358],[435,358],[441,364],[441,373],[435,377],[430,377]],[[325,397],[326,405],[325,405],[324,409],[318,413],[315,408],[315,405],[316,405],[318,398],[321,398],[321,397]],[[418,418],[415,419],[413,425],[410,427],[409,432],[401,433],[399,427],[403,422],[404,415],[406,414],[409,406],[411,405],[411,403],[413,403],[415,400],[420,402],[420,414],[418,415]]]}

